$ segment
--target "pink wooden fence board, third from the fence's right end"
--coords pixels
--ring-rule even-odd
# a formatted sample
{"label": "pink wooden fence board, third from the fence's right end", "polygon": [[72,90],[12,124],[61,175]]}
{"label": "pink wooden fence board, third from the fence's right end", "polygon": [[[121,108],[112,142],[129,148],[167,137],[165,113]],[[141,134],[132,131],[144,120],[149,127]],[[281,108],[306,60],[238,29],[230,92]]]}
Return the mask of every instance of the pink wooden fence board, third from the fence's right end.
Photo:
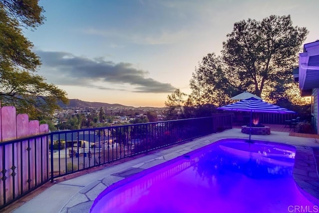
{"label": "pink wooden fence board, third from the fence's right end", "polygon": [[[16,116],[16,137],[22,138],[29,135],[29,117],[27,114],[19,114]],[[18,183],[19,193],[22,194],[27,190],[27,177],[28,177],[28,141],[23,140],[17,144],[17,154],[18,154]]]}

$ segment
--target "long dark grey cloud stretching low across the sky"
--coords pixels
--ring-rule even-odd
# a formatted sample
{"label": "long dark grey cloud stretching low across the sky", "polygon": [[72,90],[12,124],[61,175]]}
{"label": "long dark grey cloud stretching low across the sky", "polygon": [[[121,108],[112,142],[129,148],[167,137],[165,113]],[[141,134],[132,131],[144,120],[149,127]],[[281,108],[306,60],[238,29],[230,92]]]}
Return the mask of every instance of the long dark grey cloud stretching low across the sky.
{"label": "long dark grey cloud stretching low across the sky", "polygon": [[38,50],[36,53],[42,61],[39,74],[54,84],[124,91],[133,87],[133,92],[140,93],[169,93],[175,89],[169,83],[147,78],[148,71],[131,63],[115,63],[101,57],[90,59],[68,52]]}

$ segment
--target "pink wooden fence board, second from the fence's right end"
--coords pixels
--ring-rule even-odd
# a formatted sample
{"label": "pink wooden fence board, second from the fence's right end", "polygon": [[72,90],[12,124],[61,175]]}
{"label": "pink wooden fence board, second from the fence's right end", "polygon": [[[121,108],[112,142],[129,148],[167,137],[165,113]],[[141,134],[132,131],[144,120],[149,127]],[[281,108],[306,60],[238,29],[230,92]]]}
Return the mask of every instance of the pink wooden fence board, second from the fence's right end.
{"label": "pink wooden fence board, second from the fence's right end", "polygon": [[[37,135],[39,134],[39,121],[37,120],[32,120],[29,121],[29,135]],[[29,170],[30,170],[30,176],[29,176],[29,182],[30,182],[30,188],[33,188],[36,186],[36,141],[35,139],[30,140],[29,142],[29,158],[30,158],[30,165],[29,165]]]}

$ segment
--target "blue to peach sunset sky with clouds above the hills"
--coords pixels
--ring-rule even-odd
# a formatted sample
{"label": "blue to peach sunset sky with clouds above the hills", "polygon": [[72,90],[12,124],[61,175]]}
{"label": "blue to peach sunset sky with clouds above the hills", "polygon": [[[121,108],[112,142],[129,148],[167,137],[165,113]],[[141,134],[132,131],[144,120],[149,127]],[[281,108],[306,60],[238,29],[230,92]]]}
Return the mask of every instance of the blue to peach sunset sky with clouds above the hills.
{"label": "blue to peach sunset sky with clouds above the hills", "polygon": [[233,24],[288,15],[319,39],[317,0],[40,0],[46,21],[24,29],[41,57],[38,74],[68,98],[164,106],[190,93],[198,61],[220,53]]}

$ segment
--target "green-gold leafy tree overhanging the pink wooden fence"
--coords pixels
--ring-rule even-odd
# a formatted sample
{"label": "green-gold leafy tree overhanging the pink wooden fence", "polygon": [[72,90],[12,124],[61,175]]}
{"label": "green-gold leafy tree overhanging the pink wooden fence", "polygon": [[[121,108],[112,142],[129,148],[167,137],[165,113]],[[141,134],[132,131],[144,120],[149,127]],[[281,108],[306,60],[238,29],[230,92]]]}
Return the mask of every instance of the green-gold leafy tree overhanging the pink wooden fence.
{"label": "green-gold leafy tree overhanging the pink wooden fence", "polygon": [[21,30],[42,24],[42,12],[38,0],[0,0],[1,105],[13,105],[31,118],[50,115],[58,108],[57,100],[68,101],[65,91],[35,74],[40,58]]}

